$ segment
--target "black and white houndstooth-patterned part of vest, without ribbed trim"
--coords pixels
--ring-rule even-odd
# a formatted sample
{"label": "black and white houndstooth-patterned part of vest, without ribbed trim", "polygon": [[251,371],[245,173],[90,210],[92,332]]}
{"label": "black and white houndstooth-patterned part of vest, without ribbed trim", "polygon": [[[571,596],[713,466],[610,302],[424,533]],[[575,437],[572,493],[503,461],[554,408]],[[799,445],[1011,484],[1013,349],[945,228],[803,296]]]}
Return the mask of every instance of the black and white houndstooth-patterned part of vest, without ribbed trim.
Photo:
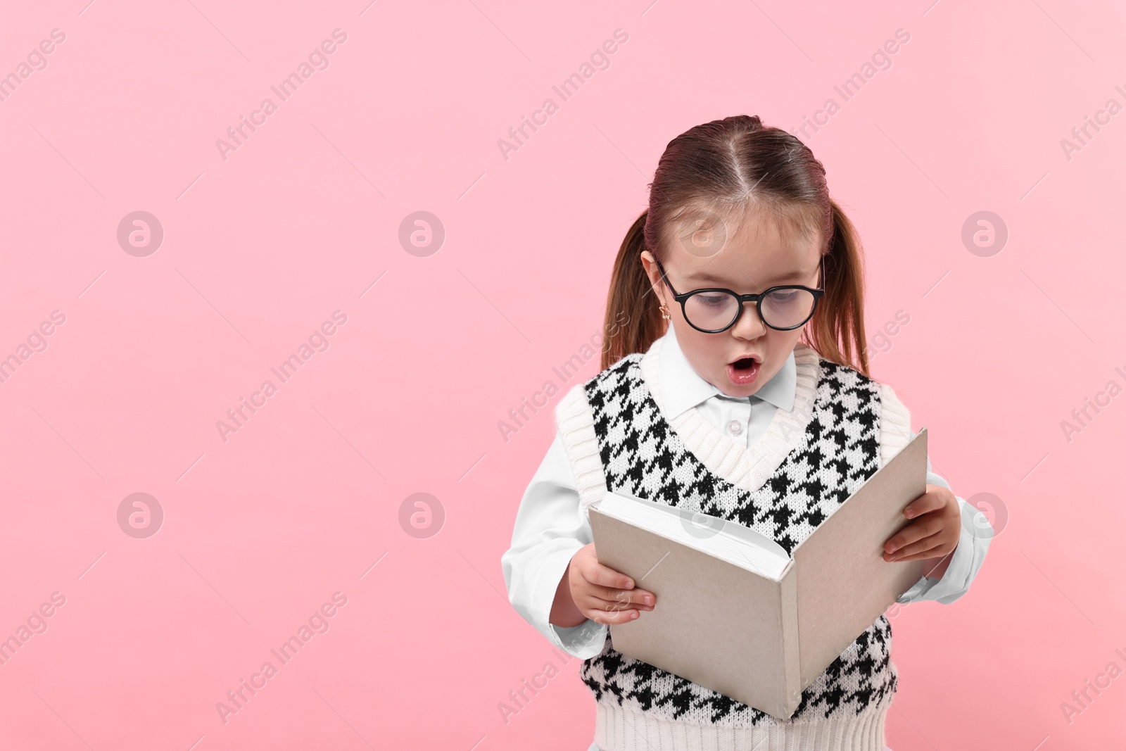
{"label": "black and white houndstooth-patterned part of vest, without ribbed trim", "polygon": [[[584,384],[609,490],[703,511],[752,527],[787,553],[808,537],[879,462],[879,384],[820,359],[812,417],[796,447],[761,488],[745,491],[711,472],[664,420],[628,355]],[[595,699],[662,718],[726,726],[860,714],[896,690],[892,627],[879,616],[802,694],[789,721],[622,654],[607,634],[580,676]]]}

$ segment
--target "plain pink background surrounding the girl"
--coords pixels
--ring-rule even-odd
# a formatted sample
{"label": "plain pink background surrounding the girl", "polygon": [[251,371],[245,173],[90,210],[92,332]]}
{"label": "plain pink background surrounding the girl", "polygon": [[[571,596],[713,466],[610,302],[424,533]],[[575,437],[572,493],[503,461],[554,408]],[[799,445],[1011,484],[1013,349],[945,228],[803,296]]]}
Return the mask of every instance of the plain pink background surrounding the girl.
{"label": "plain pink background surrounding the girl", "polygon": [[[586,749],[577,660],[498,709],[556,660],[499,563],[554,422],[508,441],[498,422],[599,330],[669,140],[743,113],[794,128],[901,28],[806,142],[866,245],[869,333],[910,316],[874,375],[955,492],[1008,521],[968,594],[895,616],[888,743],[1126,741],[1126,678],[1061,709],[1126,668],[1126,396],[1061,428],[1126,385],[1126,114],[1061,146],[1126,104],[1120,7],[86,2],[0,24],[0,73],[65,34],[0,101],[0,357],[65,316],[0,384],[0,637],[65,598],[0,665],[0,746]],[[329,66],[274,97],[337,28]],[[554,95],[618,28],[610,66]],[[548,97],[506,160],[498,140]],[[146,257],[116,236],[136,211],[164,232]],[[418,211],[446,232],[426,257],[399,241]],[[1009,232],[985,257],[962,241],[980,211]],[[338,310],[328,349],[224,441],[216,421]],[[164,513],[148,538],[117,521],[136,492]],[[445,515],[429,538],[400,521],[419,492]],[[334,592],[329,631],[224,723],[216,703]]]}

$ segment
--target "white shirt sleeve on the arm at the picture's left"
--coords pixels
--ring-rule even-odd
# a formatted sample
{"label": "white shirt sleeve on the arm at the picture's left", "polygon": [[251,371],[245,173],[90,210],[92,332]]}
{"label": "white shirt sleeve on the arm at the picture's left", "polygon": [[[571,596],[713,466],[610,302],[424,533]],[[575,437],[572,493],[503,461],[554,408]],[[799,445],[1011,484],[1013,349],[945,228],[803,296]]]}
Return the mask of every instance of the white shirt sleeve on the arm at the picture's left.
{"label": "white shirt sleeve on the arm at the picture's left", "polygon": [[555,590],[583,545],[593,542],[579,508],[574,471],[556,431],[516,512],[512,546],[501,555],[508,600],[555,646],[586,660],[602,651],[609,626],[588,618],[563,627],[548,623]]}

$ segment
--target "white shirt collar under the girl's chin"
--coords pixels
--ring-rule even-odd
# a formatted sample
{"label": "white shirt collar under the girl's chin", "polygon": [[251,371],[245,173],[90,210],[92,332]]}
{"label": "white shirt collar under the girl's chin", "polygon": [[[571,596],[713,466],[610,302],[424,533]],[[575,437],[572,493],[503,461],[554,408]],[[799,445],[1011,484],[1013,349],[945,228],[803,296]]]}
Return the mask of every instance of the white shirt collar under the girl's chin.
{"label": "white shirt collar under the girl's chin", "polygon": [[670,420],[713,396],[736,401],[747,399],[751,403],[756,399],[760,399],[787,412],[794,409],[794,399],[797,393],[797,365],[794,361],[793,351],[786,358],[781,369],[770,381],[762,384],[754,394],[745,397],[729,396],[696,373],[681,351],[671,325],[662,339],[658,367],[661,378],[661,395]]}

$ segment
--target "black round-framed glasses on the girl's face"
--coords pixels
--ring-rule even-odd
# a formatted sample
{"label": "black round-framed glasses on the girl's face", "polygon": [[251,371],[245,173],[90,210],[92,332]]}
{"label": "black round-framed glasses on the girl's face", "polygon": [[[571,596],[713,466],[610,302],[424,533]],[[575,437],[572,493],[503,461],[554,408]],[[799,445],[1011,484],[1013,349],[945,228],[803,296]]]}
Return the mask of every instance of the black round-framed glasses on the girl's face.
{"label": "black round-framed glasses on the girl's face", "polygon": [[817,310],[817,301],[825,294],[825,257],[821,257],[821,287],[811,289],[799,285],[770,287],[758,295],[740,295],[723,287],[703,287],[678,293],[656,261],[661,278],[669,285],[672,298],[680,303],[688,325],[704,333],[720,333],[735,325],[743,314],[743,303],[754,303],[759,318],[776,331],[793,331],[805,324]]}

